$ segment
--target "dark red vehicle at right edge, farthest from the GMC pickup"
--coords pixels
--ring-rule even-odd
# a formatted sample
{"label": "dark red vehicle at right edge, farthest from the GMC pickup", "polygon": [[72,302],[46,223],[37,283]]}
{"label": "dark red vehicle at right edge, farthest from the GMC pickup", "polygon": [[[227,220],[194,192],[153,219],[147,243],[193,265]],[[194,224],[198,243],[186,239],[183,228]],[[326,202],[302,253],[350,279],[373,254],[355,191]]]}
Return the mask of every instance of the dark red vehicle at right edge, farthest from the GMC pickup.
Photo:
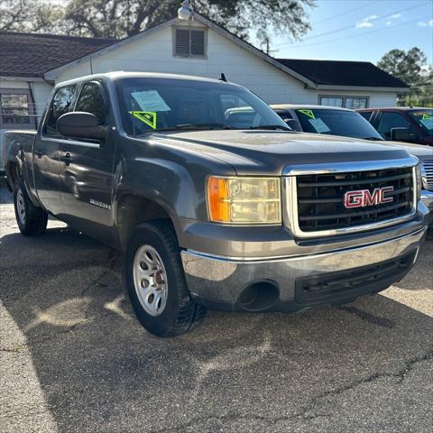
{"label": "dark red vehicle at right edge, farthest from the GMC pickup", "polygon": [[357,111],[385,140],[433,146],[433,108],[364,108]]}

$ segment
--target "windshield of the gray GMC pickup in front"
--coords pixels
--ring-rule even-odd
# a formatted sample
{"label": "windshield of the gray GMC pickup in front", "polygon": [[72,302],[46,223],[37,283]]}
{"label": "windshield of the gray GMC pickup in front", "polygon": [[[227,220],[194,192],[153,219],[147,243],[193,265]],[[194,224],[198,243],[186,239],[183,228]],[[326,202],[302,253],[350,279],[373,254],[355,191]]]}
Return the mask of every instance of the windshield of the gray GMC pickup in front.
{"label": "windshield of the gray GMC pickup in front", "polygon": [[226,82],[174,78],[116,81],[124,130],[290,130],[270,106],[246,88]]}

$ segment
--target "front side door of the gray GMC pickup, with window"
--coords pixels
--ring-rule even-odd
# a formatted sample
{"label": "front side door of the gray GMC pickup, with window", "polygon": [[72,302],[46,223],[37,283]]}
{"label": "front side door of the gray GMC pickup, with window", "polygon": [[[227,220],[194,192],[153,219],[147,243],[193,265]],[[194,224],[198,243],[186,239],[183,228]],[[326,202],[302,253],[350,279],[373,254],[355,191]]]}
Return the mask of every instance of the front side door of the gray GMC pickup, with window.
{"label": "front side door of the gray GMC pickup, with window", "polygon": [[[91,113],[100,125],[112,125],[106,90],[99,81],[88,81],[78,89],[73,111]],[[114,139],[64,140],[60,147],[62,219],[107,243],[113,226],[114,157]]]}

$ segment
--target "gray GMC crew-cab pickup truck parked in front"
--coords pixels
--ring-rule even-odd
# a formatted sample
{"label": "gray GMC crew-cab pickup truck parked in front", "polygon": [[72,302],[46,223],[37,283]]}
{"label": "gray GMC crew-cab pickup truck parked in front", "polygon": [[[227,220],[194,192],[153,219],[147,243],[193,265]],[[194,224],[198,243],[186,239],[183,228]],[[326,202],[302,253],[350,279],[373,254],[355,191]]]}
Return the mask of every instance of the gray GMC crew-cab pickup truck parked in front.
{"label": "gray GMC crew-cab pickup truck parked in front", "polygon": [[134,311],[158,336],[207,307],[299,311],[384,290],[428,224],[417,158],[293,132],[217,79],[61,83],[37,132],[6,133],[4,157],[23,235],[51,214],[122,251]]}

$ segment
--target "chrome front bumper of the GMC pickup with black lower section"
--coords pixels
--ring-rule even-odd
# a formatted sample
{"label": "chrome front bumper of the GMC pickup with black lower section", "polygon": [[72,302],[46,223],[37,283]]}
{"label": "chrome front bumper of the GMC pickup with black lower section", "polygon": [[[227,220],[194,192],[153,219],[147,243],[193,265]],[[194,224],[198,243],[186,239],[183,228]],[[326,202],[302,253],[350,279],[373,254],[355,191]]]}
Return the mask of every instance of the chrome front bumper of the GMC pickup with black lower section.
{"label": "chrome front bumper of the GMC pickup with black lower section", "polygon": [[189,291],[211,309],[299,311],[352,302],[410,271],[427,227],[376,244],[272,259],[182,251]]}

